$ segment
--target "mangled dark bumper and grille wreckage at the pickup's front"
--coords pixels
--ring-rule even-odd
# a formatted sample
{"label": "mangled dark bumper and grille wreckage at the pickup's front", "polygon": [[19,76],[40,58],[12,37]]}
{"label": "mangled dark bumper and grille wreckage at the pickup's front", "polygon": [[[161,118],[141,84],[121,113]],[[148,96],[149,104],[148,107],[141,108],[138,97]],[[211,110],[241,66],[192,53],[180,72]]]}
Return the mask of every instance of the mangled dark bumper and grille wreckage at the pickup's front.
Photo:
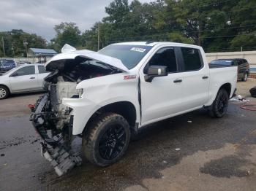
{"label": "mangled dark bumper and grille wreckage at the pickup's front", "polygon": [[[31,121],[44,140],[40,143],[41,155],[50,161],[56,174],[61,176],[75,165],[80,165],[82,159],[79,153],[72,153],[71,150],[72,115],[69,115],[69,111],[64,115],[56,112],[51,95],[52,91],[39,98],[31,114]],[[59,123],[62,123],[62,128],[58,128]]]}

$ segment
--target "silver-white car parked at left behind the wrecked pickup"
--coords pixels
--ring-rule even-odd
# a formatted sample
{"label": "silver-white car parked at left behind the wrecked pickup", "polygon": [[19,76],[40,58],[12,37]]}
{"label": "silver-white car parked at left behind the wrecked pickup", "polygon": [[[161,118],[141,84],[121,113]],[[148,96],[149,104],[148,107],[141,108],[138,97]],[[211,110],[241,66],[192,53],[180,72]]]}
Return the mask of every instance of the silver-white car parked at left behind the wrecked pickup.
{"label": "silver-white car parked at left behind the wrecked pickup", "polygon": [[28,64],[7,71],[0,76],[0,99],[13,93],[42,91],[42,83],[48,74],[43,64]]}

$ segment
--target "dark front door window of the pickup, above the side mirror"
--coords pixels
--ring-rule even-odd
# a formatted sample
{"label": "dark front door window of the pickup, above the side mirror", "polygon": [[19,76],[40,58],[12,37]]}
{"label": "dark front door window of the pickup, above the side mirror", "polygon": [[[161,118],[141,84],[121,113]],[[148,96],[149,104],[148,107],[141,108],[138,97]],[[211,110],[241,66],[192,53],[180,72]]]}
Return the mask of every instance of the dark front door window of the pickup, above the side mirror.
{"label": "dark front door window of the pickup, above the side mirror", "polygon": [[[174,48],[165,47],[158,50],[148,62],[148,66],[167,66],[167,72],[176,72],[177,63]],[[146,69],[148,66],[146,66]]]}

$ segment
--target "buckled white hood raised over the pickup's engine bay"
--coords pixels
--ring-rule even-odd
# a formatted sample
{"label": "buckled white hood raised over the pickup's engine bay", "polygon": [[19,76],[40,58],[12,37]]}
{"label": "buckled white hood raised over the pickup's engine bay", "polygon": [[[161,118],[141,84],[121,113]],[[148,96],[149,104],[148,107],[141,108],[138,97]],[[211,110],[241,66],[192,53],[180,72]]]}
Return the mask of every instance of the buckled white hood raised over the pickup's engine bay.
{"label": "buckled white hood raised over the pickup's engine bay", "polygon": [[121,69],[122,71],[129,71],[126,66],[117,58],[110,57],[108,55],[102,55],[99,52],[94,52],[91,50],[73,50],[70,52],[64,52],[58,55],[53,56],[47,63],[45,63],[45,68],[54,68],[52,66],[56,66],[59,64],[61,60],[75,59],[76,57],[89,58],[91,60],[99,61],[102,63],[106,63],[110,66],[113,66],[117,69]]}

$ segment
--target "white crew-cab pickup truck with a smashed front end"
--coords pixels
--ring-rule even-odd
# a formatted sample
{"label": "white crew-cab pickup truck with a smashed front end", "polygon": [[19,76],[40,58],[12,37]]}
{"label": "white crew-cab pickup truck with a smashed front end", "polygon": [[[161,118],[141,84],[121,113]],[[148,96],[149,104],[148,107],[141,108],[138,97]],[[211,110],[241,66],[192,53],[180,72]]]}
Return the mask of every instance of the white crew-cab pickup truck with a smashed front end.
{"label": "white crew-cab pickup truck with a smashed front end", "polygon": [[62,175],[81,163],[71,147],[83,138],[91,163],[116,163],[148,124],[195,109],[222,117],[236,91],[237,67],[209,69],[202,47],[125,42],[93,52],[65,45],[45,67],[48,93],[31,106],[42,155]]}

